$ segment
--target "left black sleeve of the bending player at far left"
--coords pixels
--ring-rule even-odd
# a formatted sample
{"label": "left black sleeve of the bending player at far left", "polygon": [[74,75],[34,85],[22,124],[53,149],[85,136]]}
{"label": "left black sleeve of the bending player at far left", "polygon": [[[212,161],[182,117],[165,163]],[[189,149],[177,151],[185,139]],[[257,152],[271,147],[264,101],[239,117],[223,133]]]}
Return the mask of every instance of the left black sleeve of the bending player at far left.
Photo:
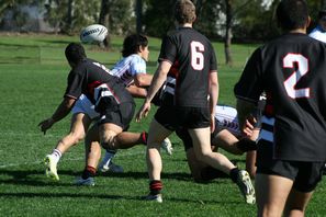
{"label": "left black sleeve of the bending player at far left", "polygon": [[68,84],[64,96],[78,99],[82,92],[82,77],[71,71],[68,76]]}

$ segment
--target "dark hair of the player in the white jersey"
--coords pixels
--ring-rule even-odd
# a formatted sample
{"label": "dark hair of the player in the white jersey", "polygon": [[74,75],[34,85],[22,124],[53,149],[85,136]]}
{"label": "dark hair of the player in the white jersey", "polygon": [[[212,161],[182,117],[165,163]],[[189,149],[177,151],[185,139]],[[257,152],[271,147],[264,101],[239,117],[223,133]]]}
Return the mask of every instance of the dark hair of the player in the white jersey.
{"label": "dark hair of the player in the white jersey", "polygon": [[148,45],[148,39],[146,36],[140,34],[132,34],[124,38],[122,56],[127,57],[132,54],[137,54],[139,52],[139,46],[143,48]]}

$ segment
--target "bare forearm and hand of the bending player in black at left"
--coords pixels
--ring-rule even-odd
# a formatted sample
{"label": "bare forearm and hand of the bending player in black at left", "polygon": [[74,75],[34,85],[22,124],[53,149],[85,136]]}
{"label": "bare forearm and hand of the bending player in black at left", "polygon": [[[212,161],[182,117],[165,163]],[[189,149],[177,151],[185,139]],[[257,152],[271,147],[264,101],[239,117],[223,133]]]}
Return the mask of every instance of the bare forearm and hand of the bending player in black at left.
{"label": "bare forearm and hand of the bending player in black at left", "polygon": [[76,99],[68,96],[64,98],[63,102],[58,105],[55,113],[49,118],[46,118],[38,124],[41,130],[46,134],[46,130],[49,129],[56,122],[59,122],[60,119],[66,117],[71,111],[75,102]]}

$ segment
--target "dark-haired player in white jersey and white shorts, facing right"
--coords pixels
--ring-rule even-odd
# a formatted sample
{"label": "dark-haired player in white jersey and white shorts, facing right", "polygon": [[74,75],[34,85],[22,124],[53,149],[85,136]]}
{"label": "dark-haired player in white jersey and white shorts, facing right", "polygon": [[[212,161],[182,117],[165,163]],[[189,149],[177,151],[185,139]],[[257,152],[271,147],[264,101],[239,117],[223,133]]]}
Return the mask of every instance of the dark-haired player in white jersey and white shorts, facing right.
{"label": "dark-haired player in white jersey and white shorts, facing right", "polygon": [[[138,34],[127,36],[123,43],[122,54],[124,58],[117,62],[111,73],[121,78],[133,96],[145,98],[147,91],[142,87],[148,87],[151,80],[151,76],[146,73],[146,61],[148,60],[149,54],[147,37]],[[109,72],[108,69],[104,70]],[[99,117],[99,113],[94,111],[94,105],[83,94],[77,100],[71,112],[70,133],[61,138],[53,152],[45,158],[47,165],[46,174],[55,180],[59,180],[57,163],[63,153],[71,146],[82,140],[91,122]],[[53,124],[52,118],[47,118],[38,125],[45,133]],[[164,147],[166,150],[171,151],[171,144],[168,139],[165,140]],[[112,152],[114,153],[115,151]],[[88,155],[88,152],[86,155]],[[101,163],[101,170],[121,172],[122,168],[111,161],[112,157],[112,153],[105,153],[103,162]]]}

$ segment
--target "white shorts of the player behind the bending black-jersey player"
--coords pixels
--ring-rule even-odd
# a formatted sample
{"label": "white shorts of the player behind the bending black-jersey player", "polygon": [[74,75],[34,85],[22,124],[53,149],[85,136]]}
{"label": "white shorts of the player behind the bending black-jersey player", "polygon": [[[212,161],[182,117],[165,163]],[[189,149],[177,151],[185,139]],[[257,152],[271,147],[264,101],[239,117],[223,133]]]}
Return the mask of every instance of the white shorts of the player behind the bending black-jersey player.
{"label": "white shorts of the player behind the bending black-jersey player", "polygon": [[81,94],[79,96],[71,112],[72,114],[77,114],[77,113],[87,114],[91,119],[95,119],[97,117],[100,116],[100,114],[95,112],[94,105],[91,103],[91,101],[89,101],[89,99],[85,94]]}

